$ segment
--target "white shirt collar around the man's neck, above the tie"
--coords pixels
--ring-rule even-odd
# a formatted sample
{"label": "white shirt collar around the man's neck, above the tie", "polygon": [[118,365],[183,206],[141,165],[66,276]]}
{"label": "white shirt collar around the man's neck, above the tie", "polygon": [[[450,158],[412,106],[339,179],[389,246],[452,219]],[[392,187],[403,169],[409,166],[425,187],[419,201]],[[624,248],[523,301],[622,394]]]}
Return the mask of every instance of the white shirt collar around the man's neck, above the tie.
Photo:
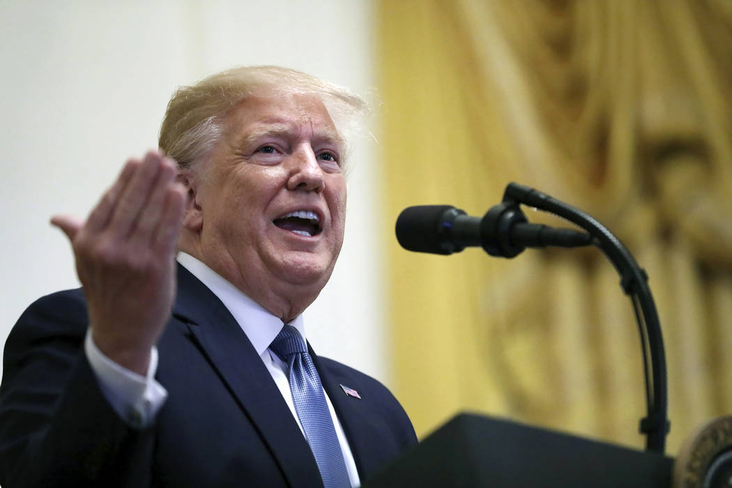
{"label": "white shirt collar around the man's neck, above the tie", "polygon": [[[272,315],[272,312],[269,312],[256,301],[244,295],[239,288],[236,288],[231,282],[228,282],[192,255],[181,251],[178,253],[177,259],[181,266],[190,271],[222,301],[228,311],[231,312],[231,315],[234,315],[234,319],[239,323],[244,334],[247,335],[257,354],[262,356],[269,348],[269,345],[272,344],[272,341],[275,340],[277,334],[280,334],[283,321]],[[307,342],[305,320],[302,318],[302,314],[292,320],[290,325],[294,326]]]}

